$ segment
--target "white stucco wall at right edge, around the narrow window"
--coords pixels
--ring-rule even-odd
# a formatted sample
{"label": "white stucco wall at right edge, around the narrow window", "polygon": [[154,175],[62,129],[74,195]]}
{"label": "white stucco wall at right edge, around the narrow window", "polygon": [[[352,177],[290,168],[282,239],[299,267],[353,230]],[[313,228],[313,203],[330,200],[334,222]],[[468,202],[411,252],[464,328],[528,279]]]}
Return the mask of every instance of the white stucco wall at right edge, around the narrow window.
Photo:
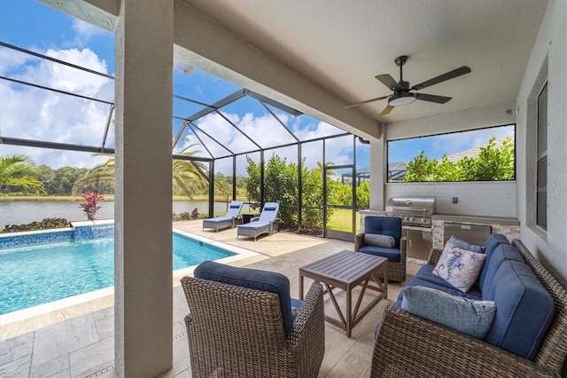
{"label": "white stucco wall at right edge, around the narrow window", "polygon": [[[517,211],[524,244],[567,286],[567,2],[552,0],[517,96]],[[548,80],[548,230],[535,218],[537,95]]]}

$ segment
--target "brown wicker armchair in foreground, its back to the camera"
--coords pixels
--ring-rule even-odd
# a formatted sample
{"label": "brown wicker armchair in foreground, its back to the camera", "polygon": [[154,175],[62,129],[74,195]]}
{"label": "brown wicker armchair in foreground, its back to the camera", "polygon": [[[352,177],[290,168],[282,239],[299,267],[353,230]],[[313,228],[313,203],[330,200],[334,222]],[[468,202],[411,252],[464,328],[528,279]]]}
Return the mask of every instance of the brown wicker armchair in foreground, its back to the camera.
{"label": "brown wicker armchair in foreground, its back to the camera", "polygon": [[[210,268],[216,263],[203,264]],[[207,279],[182,279],[190,308],[185,325],[194,377],[317,376],[325,350],[321,284],[310,287],[293,317],[291,302],[295,300],[290,300],[285,276],[228,265],[220,268],[227,274],[212,273],[211,269],[203,273],[203,264],[196,268],[195,276]],[[287,283],[287,287],[280,287],[281,295],[265,291],[274,287],[274,275],[281,276],[276,281]],[[242,286],[223,283],[226,280]],[[282,299],[287,303],[286,310]],[[285,311],[290,322],[287,333]]]}

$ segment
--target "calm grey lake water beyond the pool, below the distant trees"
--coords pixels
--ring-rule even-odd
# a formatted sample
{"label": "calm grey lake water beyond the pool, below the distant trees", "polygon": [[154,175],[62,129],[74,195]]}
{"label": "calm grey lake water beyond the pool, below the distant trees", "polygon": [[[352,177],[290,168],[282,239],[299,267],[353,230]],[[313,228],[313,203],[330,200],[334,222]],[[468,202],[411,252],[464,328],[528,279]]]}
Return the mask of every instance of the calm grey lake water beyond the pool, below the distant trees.
{"label": "calm grey lake water beyond the pool, below the distant trees", "polygon": [[[114,218],[114,202],[103,201],[101,209],[97,211],[97,219]],[[191,212],[197,208],[200,214],[208,213],[208,202],[204,201],[179,201],[173,202],[172,212],[181,214]],[[214,202],[214,211],[226,211],[225,202]],[[248,211],[248,206],[242,210]],[[66,218],[66,220],[85,221],[87,216],[79,207],[79,202],[43,202],[43,201],[10,201],[0,202],[0,227],[7,224],[28,224],[34,221],[42,221],[45,218]]]}

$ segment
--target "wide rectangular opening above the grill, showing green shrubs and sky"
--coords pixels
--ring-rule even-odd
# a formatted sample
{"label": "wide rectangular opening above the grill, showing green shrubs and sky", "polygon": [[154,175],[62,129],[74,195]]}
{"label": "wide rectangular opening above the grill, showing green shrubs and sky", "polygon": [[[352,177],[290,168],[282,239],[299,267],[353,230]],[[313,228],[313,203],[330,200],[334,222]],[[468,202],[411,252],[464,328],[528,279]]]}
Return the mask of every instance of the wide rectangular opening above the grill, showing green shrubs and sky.
{"label": "wide rectangular opening above the grill, showing green shrubs and sky", "polygon": [[500,181],[516,177],[516,126],[388,142],[388,182]]}

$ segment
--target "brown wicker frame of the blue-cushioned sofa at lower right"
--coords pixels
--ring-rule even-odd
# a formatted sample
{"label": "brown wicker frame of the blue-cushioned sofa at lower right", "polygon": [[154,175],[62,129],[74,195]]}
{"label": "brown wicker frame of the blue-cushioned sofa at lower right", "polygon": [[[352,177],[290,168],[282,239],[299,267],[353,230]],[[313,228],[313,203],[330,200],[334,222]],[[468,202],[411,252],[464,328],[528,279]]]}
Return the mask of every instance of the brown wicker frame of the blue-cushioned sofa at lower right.
{"label": "brown wicker frame of the blue-cushioned sofa at lower right", "polygon": [[[500,241],[505,243],[507,240]],[[567,291],[532,256],[520,240],[513,240],[511,246],[503,249],[513,252],[510,249],[512,246],[517,249],[524,261],[509,262],[506,263],[507,266],[521,268],[520,264],[526,264],[531,269],[528,275],[535,276],[536,281],[539,281],[551,296],[553,307],[555,307],[549,327],[541,335],[537,335],[540,343],[532,349],[531,358],[520,357],[516,353],[487,343],[486,340],[479,340],[403,311],[398,301],[384,311],[377,328],[371,376],[558,377],[567,357]],[[431,265],[437,264],[441,253],[440,250],[432,250],[428,261],[430,266],[424,265],[422,269],[431,270]],[[419,273],[416,277],[418,276]],[[494,280],[506,280],[503,276],[498,270],[495,272]],[[525,272],[524,276],[526,276]],[[418,281],[419,279],[409,280],[406,286],[419,284]],[[505,290],[508,285],[509,282],[504,282],[501,288]],[[496,314],[498,314],[499,304],[495,304]],[[505,310],[502,306],[501,312]],[[532,311],[537,313],[539,309],[532,309]],[[496,321],[495,319],[494,322]],[[516,324],[514,327],[518,328],[518,326],[520,338],[516,339],[517,343],[518,340],[523,341],[521,337],[524,331],[529,332],[527,328],[521,329],[521,324]],[[508,327],[512,327],[511,322]],[[517,345],[512,347],[517,347]]]}

